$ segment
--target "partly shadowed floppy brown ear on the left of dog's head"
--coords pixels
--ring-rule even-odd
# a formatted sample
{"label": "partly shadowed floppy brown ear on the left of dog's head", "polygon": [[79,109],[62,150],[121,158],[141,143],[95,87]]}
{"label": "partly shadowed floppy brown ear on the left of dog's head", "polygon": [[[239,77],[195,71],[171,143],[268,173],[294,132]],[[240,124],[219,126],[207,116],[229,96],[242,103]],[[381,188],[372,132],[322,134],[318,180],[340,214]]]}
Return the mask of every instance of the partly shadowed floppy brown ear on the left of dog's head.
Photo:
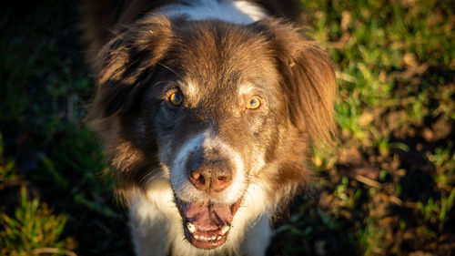
{"label": "partly shadowed floppy brown ear on the left of dog's head", "polygon": [[126,114],[133,108],[171,45],[171,23],[164,16],[148,18],[120,30],[96,59],[98,79],[90,119]]}

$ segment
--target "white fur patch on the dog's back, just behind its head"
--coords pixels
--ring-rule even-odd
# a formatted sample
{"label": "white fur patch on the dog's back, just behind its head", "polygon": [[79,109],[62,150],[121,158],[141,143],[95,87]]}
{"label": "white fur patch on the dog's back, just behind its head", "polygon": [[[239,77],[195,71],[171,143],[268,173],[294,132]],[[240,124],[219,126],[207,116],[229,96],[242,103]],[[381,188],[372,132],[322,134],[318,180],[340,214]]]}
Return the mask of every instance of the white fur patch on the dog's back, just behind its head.
{"label": "white fur patch on the dog's back, just behind its head", "polygon": [[187,15],[192,20],[218,19],[235,24],[250,24],[268,16],[267,12],[248,1],[195,0],[191,5],[167,5],[158,12],[170,17]]}

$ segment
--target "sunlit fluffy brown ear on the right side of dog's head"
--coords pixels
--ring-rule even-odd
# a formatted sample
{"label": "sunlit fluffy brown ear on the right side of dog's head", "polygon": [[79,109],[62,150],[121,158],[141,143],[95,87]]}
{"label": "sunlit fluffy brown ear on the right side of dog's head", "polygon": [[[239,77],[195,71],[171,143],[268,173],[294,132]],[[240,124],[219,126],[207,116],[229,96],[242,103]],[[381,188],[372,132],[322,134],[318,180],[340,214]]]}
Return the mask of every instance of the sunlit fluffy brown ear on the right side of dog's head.
{"label": "sunlit fluffy brown ear on the right side of dog's head", "polygon": [[328,54],[283,21],[270,19],[254,26],[272,42],[290,121],[315,142],[331,145],[337,82]]}

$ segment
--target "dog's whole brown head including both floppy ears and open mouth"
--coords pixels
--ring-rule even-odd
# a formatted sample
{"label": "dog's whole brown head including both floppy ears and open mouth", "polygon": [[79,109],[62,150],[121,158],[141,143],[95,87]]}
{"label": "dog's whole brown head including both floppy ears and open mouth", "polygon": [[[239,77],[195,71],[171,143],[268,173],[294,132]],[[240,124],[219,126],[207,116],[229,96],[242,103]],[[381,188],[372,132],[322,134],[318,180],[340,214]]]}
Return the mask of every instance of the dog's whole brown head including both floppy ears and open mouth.
{"label": "dog's whole brown head including both floppy ears and open mouth", "polygon": [[147,17],[98,67],[91,115],[121,189],[167,177],[198,248],[226,241],[251,183],[279,200],[305,181],[308,144],[334,127],[329,57],[281,21]]}

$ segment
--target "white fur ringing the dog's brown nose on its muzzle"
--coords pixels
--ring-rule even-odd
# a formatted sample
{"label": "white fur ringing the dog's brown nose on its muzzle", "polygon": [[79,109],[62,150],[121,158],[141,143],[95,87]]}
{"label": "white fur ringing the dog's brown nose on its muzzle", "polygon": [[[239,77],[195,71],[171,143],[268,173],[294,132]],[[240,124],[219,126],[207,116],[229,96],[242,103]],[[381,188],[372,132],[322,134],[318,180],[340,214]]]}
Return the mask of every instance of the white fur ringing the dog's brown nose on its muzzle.
{"label": "white fur ringing the dog's brown nose on its muzzle", "polygon": [[[221,139],[213,136],[207,130],[187,139],[181,148],[177,149],[177,157],[169,167],[170,181],[177,197],[184,201],[208,200],[207,193],[196,189],[188,180],[187,161],[192,152],[209,151],[216,149],[221,158],[229,161],[233,169],[232,184],[227,189],[217,193],[217,198],[210,198],[219,203],[235,203],[246,189],[246,173],[244,160],[236,150]],[[202,157],[202,156],[201,156]]]}

